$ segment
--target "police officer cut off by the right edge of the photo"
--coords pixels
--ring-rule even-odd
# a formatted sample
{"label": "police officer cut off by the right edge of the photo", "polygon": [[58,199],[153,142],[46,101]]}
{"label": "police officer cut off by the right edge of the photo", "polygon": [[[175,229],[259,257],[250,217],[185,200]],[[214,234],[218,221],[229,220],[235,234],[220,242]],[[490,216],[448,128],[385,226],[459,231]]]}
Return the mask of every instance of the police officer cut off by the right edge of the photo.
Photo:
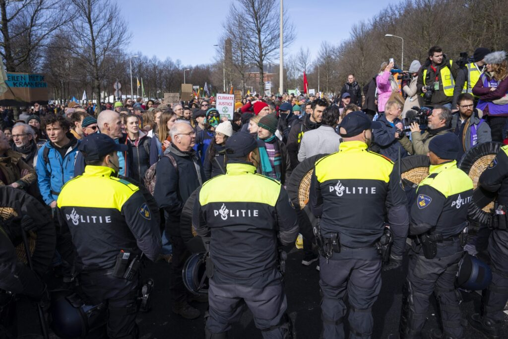
{"label": "police officer cut off by the right edge of the photo", "polygon": [[499,149],[479,183],[483,189],[497,192],[489,225],[492,229],[488,246],[492,282],[482,293],[480,313],[471,315],[468,321],[487,337],[500,338],[503,310],[508,301],[508,145]]}

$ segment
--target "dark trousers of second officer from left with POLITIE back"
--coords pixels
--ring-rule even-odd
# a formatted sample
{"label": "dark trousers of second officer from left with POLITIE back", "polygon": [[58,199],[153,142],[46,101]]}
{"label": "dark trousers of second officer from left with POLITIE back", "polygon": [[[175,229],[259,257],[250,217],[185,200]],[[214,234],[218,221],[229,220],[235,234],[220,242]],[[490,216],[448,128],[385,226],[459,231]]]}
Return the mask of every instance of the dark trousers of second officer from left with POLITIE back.
{"label": "dark trousers of second officer from left with POLITIE back", "polygon": [[290,326],[285,316],[288,301],[282,275],[275,268],[250,279],[234,279],[215,270],[209,280],[208,303],[206,327],[212,338],[226,337],[225,332],[240,319],[245,305],[265,339],[288,335]]}

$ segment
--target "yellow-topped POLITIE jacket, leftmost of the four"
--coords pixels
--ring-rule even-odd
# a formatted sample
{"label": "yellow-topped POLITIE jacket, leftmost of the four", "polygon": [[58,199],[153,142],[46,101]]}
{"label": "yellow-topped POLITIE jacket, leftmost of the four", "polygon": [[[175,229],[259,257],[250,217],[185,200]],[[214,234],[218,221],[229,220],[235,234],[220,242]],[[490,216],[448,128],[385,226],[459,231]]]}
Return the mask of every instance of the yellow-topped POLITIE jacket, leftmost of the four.
{"label": "yellow-topped POLITIE jacket, leftmost of the four", "polygon": [[80,271],[113,268],[120,250],[155,260],[161,249],[161,233],[143,194],[113,174],[112,168],[88,165],[58,196]]}

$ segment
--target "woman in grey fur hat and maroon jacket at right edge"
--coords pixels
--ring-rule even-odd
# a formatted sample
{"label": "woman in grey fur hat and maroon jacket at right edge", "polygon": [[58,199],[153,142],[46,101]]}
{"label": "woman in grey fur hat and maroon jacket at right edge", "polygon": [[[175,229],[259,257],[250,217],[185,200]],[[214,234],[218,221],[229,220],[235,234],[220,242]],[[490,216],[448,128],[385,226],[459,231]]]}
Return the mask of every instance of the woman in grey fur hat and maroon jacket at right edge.
{"label": "woman in grey fur hat and maroon jacket at right edge", "polygon": [[489,53],[484,58],[486,72],[480,76],[472,92],[479,96],[477,108],[483,111],[490,126],[492,141],[503,141],[508,117],[508,61],[505,51]]}

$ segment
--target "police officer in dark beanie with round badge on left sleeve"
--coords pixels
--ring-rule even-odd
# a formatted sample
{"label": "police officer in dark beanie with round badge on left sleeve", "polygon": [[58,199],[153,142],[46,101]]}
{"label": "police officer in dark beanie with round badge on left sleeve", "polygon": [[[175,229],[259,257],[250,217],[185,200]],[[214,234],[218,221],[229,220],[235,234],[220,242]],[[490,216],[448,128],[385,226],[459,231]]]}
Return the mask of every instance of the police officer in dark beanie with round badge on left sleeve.
{"label": "police officer in dark beanie with round badge on left sleeve", "polygon": [[430,174],[420,182],[410,210],[409,233],[414,241],[402,299],[401,338],[421,337],[433,292],[444,333],[432,329],[431,337],[463,337],[460,295],[454,284],[463,255],[460,235],[467,227],[473,183],[457,168],[454,159],[459,147],[453,133],[438,135],[429,144]]}

